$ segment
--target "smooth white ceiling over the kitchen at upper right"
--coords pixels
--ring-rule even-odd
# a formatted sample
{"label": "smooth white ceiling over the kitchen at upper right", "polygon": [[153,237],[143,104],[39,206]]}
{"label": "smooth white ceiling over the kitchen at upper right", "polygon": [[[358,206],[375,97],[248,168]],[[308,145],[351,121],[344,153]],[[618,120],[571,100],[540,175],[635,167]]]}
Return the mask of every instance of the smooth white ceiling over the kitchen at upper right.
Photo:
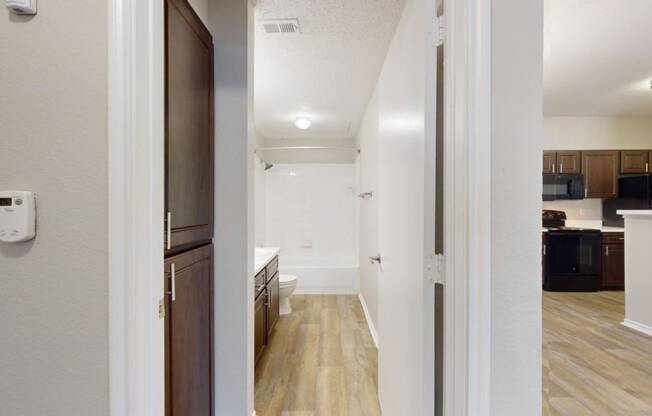
{"label": "smooth white ceiling over the kitchen at upper right", "polygon": [[544,4],[544,114],[652,115],[652,1]]}

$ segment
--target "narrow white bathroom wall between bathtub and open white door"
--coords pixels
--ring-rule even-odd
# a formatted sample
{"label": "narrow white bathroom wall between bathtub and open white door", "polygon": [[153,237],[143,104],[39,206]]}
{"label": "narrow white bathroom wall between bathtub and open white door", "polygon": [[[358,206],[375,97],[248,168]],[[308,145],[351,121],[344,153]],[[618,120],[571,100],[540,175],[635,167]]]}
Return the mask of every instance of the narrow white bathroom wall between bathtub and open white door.
{"label": "narrow white bathroom wall between bathtub and open white door", "polygon": [[378,322],[378,266],[369,256],[378,254],[378,92],[374,91],[356,138],[360,147],[360,192],[374,192],[360,200],[360,293],[376,330]]}

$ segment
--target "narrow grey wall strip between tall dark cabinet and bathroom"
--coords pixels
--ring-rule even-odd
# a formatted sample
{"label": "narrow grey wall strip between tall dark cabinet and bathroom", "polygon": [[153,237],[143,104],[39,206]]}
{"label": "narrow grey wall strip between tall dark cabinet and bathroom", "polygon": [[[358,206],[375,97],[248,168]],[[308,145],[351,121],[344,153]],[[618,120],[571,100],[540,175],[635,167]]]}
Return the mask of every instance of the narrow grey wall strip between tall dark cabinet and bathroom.
{"label": "narrow grey wall strip between tall dark cabinet and bathroom", "polygon": [[[255,131],[249,2],[211,0],[215,45],[215,413],[253,412]],[[247,70],[249,68],[249,70]]]}

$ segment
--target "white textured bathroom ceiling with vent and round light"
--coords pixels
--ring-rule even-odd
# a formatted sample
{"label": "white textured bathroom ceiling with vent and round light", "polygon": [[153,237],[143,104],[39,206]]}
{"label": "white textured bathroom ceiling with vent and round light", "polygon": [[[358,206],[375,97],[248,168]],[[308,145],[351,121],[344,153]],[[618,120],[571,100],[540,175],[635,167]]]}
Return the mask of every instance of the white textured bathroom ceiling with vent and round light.
{"label": "white textured bathroom ceiling with vent and round light", "polygon": [[[256,19],[298,18],[298,37],[256,24],[254,115],[265,137],[355,136],[404,0],[258,0]],[[297,116],[313,126],[299,130]]]}

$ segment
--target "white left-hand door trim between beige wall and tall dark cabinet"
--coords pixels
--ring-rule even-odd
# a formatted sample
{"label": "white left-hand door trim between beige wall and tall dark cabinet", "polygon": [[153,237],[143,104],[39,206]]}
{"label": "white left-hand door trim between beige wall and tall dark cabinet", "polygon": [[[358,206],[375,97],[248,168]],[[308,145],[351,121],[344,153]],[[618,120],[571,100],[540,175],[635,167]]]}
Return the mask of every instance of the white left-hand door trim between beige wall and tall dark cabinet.
{"label": "white left-hand door trim between beige wall and tall dark cabinet", "polygon": [[108,2],[111,416],[164,408],[163,2]]}

